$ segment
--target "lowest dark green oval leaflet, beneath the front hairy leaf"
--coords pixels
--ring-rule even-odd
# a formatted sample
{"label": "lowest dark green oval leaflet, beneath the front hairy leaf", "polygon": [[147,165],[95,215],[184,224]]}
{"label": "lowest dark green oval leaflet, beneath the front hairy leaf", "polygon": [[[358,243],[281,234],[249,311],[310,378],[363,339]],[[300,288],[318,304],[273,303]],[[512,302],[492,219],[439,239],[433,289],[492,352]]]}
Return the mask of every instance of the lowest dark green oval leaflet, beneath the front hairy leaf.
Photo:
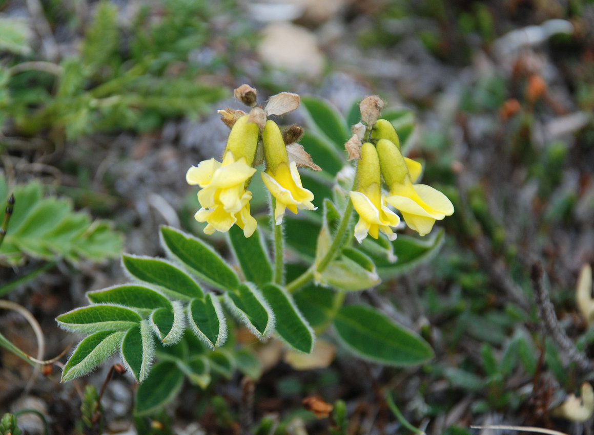
{"label": "lowest dark green oval leaflet, beneath the front hairy leaf", "polygon": [[136,414],[146,415],[164,407],[178,395],[183,384],[184,373],[176,363],[162,361],[155,364],[136,390]]}

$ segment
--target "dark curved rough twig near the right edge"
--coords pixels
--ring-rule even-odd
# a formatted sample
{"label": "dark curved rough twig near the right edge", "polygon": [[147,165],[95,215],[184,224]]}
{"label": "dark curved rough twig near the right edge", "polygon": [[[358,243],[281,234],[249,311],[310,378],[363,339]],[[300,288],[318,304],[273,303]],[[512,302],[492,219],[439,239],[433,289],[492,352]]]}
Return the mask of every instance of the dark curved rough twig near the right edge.
{"label": "dark curved rough twig near the right edge", "polygon": [[535,262],[530,270],[530,278],[532,278],[532,287],[536,298],[536,306],[538,306],[538,315],[542,321],[542,327],[545,334],[550,336],[555,343],[564,351],[568,358],[573,361],[577,368],[582,372],[590,372],[594,369],[592,362],[586,355],[577,351],[576,345],[571,338],[565,334],[561,329],[557,315],[555,315],[555,308],[549,298],[544,284],[544,274],[540,263]]}

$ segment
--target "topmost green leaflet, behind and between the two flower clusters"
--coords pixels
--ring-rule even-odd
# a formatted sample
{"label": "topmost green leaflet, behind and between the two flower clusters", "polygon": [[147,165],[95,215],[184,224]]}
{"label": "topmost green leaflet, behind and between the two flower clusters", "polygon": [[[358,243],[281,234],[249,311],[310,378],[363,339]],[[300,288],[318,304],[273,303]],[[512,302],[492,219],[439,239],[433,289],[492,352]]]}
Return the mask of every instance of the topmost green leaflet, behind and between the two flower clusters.
{"label": "topmost green leaflet, behind and between the two flower clusters", "polygon": [[339,151],[344,151],[345,142],[350,138],[350,132],[346,121],[338,110],[326,103],[326,101],[315,97],[301,97],[301,103],[311,123],[334,142]]}

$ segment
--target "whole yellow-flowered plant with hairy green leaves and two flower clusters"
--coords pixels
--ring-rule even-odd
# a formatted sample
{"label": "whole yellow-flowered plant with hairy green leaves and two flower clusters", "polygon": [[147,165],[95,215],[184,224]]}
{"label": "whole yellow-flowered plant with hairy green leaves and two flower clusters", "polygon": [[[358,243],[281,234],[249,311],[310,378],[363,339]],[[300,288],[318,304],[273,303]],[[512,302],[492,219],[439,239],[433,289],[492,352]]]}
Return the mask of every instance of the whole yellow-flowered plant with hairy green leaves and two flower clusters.
{"label": "whole yellow-flowered plant with hairy green leaves and two flower clusters", "polygon": [[[248,85],[235,95],[251,109],[220,111],[230,127],[222,160],[204,160],[186,176],[200,188],[195,219],[206,223],[207,235],[227,234],[233,258],[177,228],[160,228],[166,259],[124,255],[130,282],[91,291],[89,306],[58,317],[65,329],[88,334],[62,380],[83,376],[119,351],[141,382],[142,414],[175,397],[184,377],[202,387],[235,368],[257,377],[251,348],[228,339],[229,323],[301,353],[333,325],[347,350],[367,360],[407,366],[432,357],[415,332],[373,307],[345,303],[347,292],[372,288],[439,249],[443,231],[425,240],[396,236],[404,226],[398,212],[421,235],[453,213],[443,193],[415,184],[422,166],[403,155],[413,137],[410,113],[386,111],[380,119],[383,101],[368,97],[351,111],[349,132],[342,115],[311,97],[280,93],[262,108]],[[300,103],[310,132],[296,125],[281,130],[267,119]],[[252,182],[258,170],[260,187]],[[252,189],[267,189],[268,218],[250,208]]]}

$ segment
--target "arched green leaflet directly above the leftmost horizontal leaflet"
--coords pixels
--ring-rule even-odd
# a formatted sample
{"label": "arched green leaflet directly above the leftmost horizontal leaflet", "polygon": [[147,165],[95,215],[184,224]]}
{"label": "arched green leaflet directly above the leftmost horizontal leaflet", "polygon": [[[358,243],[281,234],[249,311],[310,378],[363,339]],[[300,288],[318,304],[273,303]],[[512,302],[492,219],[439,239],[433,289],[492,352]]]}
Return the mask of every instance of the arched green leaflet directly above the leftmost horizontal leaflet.
{"label": "arched green leaflet directly above the leftmost horizontal leaflet", "polygon": [[141,314],[164,307],[171,309],[165,296],[141,285],[114,285],[102,290],[89,291],[87,297],[93,303],[118,304],[138,310]]}

